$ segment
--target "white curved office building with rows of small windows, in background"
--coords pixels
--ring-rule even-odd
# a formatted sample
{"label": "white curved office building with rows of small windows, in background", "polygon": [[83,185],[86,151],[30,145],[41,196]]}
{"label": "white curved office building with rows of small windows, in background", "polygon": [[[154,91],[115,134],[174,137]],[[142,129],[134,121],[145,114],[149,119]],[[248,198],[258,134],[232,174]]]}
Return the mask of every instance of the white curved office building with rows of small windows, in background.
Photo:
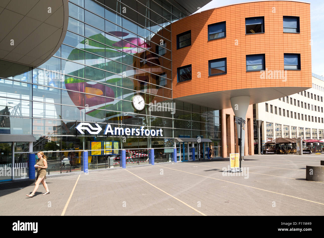
{"label": "white curved office building with rows of small windows, in background", "polygon": [[[262,120],[261,142],[278,137],[303,140],[324,139],[324,78],[312,74],[312,88],[253,105],[255,119]],[[257,150],[257,126],[254,124],[254,142]]]}

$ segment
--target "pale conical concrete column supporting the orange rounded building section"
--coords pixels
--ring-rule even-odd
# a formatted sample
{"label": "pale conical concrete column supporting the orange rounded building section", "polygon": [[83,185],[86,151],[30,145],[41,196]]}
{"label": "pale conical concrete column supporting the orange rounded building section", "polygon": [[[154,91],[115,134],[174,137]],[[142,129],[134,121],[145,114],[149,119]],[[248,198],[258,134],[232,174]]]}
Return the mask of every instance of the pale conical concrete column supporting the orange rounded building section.
{"label": "pale conical concrete column supporting the orange rounded building section", "polygon": [[[234,114],[236,117],[241,117],[244,120],[246,119],[246,112],[248,111],[249,104],[250,104],[250,97],[249,96],[237,96],[232,97],[231,99],[231,106],[233,108]],[[241,126],[236,124],[237,128],[237,135],[238,138],[241,138],[242,141],[242,157],[244,156],[244,144],[245,144],[245,131],[242,131],[241,135]],[[247,129],[245,129],[247,130]]]}

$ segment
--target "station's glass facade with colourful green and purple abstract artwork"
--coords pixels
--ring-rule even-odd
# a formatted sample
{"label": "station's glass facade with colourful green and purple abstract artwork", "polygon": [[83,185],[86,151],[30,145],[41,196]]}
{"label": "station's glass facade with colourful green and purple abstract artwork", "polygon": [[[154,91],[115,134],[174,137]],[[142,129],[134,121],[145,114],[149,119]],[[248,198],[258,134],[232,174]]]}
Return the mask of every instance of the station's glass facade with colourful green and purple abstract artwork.
{"label": "station's glass facade with colourful green and purple abstract artwork", "polygon": [[[41,66],[0,79],[0,133],[33,135],[33,152],[48,156],[50,175],[81,171],[85,150],[89,169],[119,166],[121,149],[126,165],[147,163],[150,148],[155,163],[168,162],[178,137],[208,138],[221,156],[219,111],[172,99],[170,24],[182,17],[164,0],[69,1],[60,49]],[[145,100],[141,111],[135,95]],[[163,134],[80,134],[80,122]],[[29,146],[17,147],[15,163],[27,163]]]}

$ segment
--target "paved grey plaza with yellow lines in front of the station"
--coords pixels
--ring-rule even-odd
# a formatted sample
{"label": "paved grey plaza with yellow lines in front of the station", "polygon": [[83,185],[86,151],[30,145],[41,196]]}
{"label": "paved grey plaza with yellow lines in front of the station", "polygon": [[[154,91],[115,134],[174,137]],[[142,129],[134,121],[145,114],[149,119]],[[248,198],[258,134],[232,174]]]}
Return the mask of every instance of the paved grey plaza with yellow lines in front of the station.
{"label": "paved grey plaza with yellow lines in front of the station", "polygon": [[49,177],[49,195],[40,185],[26,197],[33,184],[1,190],[0,215],[324,215],[324,182],[305,180],[320,160],[252,155],[240,174],[226,172],[227,158]]}

